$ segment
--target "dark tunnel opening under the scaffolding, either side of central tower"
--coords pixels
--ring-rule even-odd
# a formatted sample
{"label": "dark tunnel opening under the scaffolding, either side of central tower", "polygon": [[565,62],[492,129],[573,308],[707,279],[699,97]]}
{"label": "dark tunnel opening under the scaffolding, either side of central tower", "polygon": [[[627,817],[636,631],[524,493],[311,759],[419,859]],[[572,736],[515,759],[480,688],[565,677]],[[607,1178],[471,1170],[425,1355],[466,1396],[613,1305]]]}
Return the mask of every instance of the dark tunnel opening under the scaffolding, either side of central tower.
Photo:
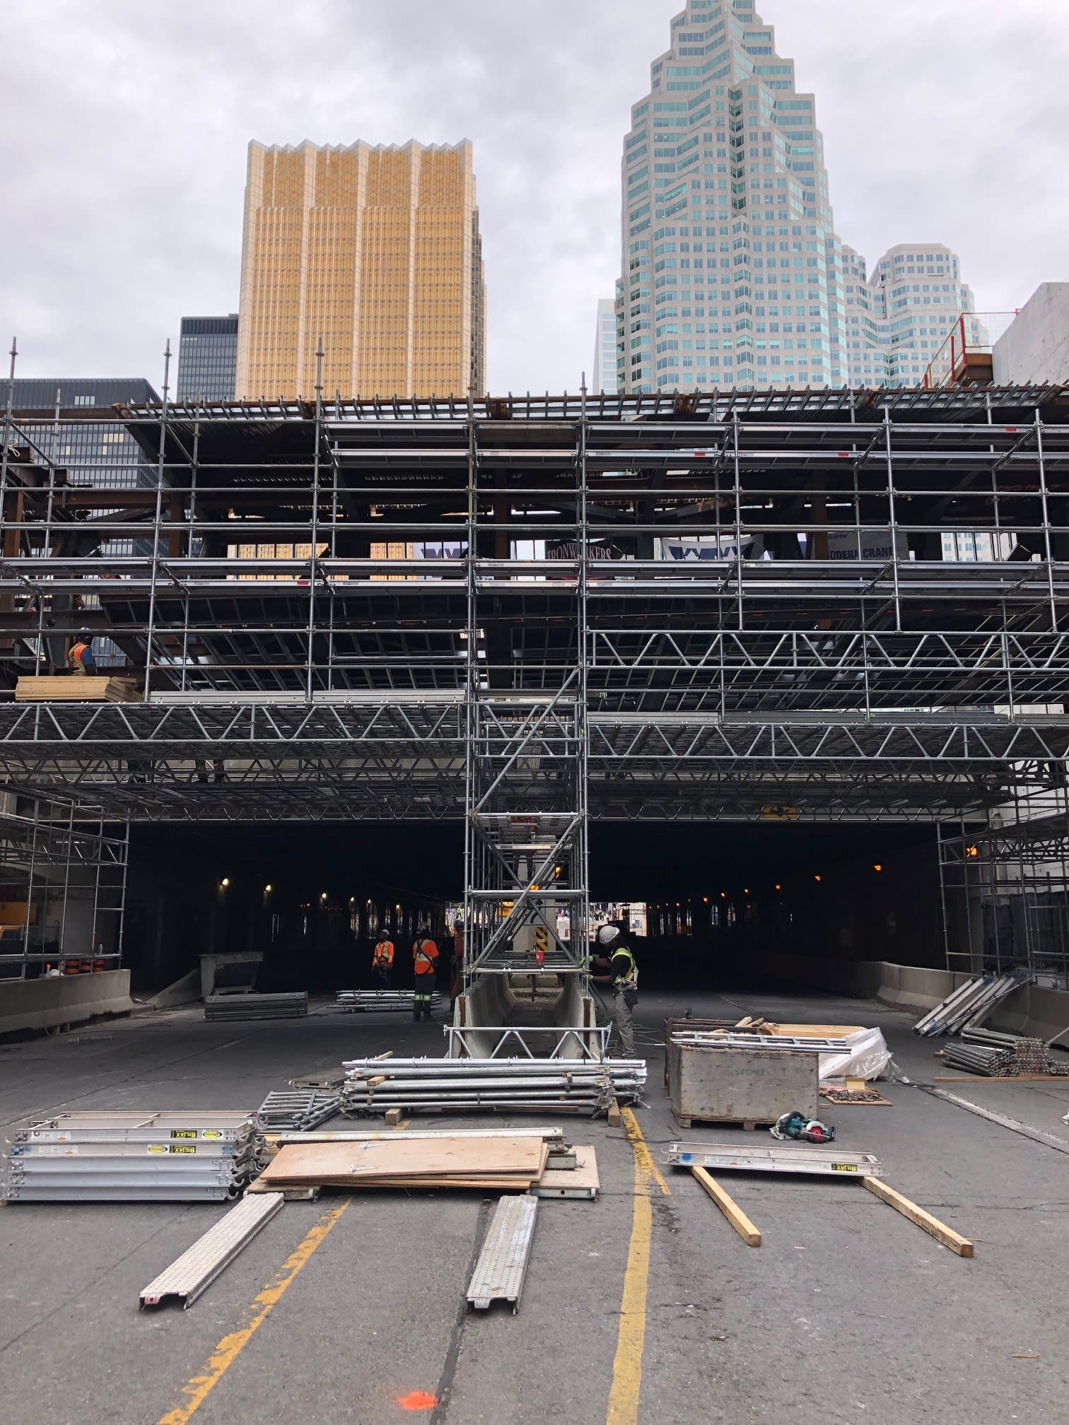
{"label": "dark tunnel opening under the scaffolding, either side of central tower", "polygon": [[[616,921],[649,988],[754,986],[775,956],[942,966],[935,829],[593,824],[592,925]],[[388,931],[399,976],[420,926],[452,943],[463,828],[289,824],[135,826],[127,963],[137,992],[200,955],[258,950],[268,990],[371,983]]]}

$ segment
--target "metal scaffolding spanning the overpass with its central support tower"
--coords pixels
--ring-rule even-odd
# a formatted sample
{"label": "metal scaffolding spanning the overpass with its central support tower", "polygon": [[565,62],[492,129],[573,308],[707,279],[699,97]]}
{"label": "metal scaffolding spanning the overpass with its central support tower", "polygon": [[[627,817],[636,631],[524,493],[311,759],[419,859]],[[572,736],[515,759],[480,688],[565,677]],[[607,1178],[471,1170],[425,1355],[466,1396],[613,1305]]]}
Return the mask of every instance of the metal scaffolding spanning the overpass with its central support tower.
{"label": "metal scaffolding spanning the overpass with its central support tower", "polygon": [[466,814],[469,976],[542,926],[583,978],[589,817],[961,822],[1063,775],[1062,389],[118,415],[153,489],[57,465],[56,412],[4,416],[3,681],[90,633],[137,684],[9,691],[9,789],[118,821]]}

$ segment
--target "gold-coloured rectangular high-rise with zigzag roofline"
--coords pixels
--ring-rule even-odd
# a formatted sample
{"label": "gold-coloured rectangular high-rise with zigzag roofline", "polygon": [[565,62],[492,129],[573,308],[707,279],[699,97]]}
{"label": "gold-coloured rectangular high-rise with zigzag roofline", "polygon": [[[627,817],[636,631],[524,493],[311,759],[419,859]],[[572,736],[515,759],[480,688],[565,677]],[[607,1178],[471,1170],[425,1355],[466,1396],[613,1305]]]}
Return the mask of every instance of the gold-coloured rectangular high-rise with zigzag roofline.
{"label": "gold-coloured rectangular high-rise with zigzag roofline", "polygon": [[486,386],[472,145],[252,142],[237,396],[466,396]]}

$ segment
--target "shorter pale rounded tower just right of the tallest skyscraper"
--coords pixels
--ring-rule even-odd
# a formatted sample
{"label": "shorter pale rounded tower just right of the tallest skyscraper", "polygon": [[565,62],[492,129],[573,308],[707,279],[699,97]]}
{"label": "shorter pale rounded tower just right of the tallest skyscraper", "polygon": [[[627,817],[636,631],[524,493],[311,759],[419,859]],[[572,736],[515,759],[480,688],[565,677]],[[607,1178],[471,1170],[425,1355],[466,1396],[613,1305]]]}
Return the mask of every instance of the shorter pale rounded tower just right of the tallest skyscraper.
{"label": "shorter pale rounded tower just right of the tallest skyscraper", "polygon": [[976,308],[958,254],[941,242],[905,242],[869,275],[861,254],[844,245],[842,268],[851,386],[922,385],[954,323]]}

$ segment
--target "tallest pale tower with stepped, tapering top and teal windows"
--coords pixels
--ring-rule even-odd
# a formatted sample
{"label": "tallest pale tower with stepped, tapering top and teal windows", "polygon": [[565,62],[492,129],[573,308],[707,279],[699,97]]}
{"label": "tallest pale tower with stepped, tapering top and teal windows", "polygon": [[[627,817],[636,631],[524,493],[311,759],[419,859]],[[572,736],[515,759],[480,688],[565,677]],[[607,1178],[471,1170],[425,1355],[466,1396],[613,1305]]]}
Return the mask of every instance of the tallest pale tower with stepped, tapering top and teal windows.
{"label": "tallest pale tower with stepped, tapering top and teal windows", "polygon": [[815,117],[751,0],[687,0],[624,141],[620,390],[845,383]]}

